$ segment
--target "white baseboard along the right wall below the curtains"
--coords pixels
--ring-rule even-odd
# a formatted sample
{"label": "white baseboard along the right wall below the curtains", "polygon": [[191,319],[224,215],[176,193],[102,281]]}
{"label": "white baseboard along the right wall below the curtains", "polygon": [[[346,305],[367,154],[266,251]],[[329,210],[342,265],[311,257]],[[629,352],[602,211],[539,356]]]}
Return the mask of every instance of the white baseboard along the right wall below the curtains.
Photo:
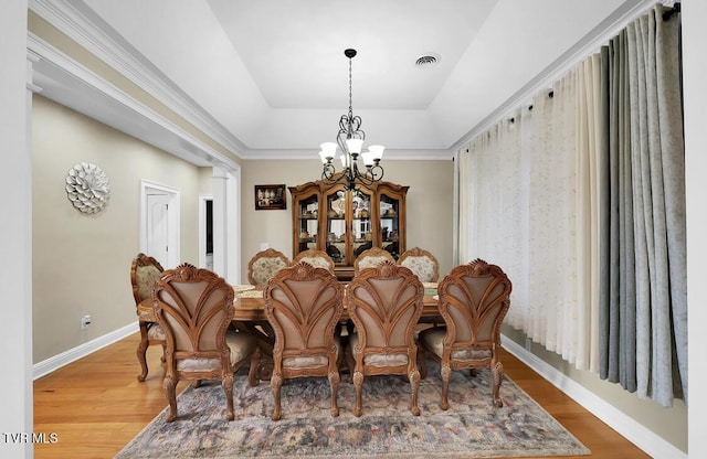
{"label": "white baseboard along the right wall below the curtains", "polygon": [[567,377],[555,367],[528,352],[515,341],[502,335],[502,345],[523,363],[528,365],[550,384],[562,391],[574,402],[579,403],[588,412],[600,418],[603,423],[616,430],[629,441],[644,450],[654,458],[687,459],[687,453],[666,441],[654,431],[643,427],[632,417],[626,416],[620,409],[614,408],[606,401],[589,391],[581,384]]}

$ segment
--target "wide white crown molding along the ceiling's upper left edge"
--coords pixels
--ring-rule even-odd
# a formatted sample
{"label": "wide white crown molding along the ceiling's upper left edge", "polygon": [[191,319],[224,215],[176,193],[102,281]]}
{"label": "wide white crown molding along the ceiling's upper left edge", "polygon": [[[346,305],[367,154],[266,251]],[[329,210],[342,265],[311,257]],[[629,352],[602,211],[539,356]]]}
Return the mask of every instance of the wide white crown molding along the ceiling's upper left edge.
{"label": "wide white crown molding along the ceiling's upper left edge", "polygon": [[83,1],[30,0],[29,8],[235,156],[247,150]]}

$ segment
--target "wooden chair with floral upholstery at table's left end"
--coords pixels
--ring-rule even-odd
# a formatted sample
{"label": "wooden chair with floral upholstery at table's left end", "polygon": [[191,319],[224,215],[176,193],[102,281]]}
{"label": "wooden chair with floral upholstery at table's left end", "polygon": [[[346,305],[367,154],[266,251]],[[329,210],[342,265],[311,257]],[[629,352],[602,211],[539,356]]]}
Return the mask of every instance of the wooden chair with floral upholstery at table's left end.
{"label": "wooden chair with floral upholstery at table's left end", "polygon": [[130,284],[135,298],[135,311],[140,328],[140,342],[137,345],[137,360],[140,363],[140,374],[137,381],[144,382],[147,377],[147,349],[150,345],[162,346],[162,362],[165,361],[165,330],[157,323],[152,308],[152,288],[162,275],[162,265],[154,257],[143,253],[137,254],[130,265]]}

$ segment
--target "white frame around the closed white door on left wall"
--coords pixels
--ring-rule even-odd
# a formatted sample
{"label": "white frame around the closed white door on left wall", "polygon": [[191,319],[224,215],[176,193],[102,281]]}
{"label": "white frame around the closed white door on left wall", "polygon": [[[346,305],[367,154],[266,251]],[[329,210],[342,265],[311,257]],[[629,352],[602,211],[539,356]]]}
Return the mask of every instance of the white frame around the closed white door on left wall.
{"label": "white frame around the closed white door on left wall", "polygon": [[150,182],[147,180],[140,180],[140,237],[139,246],[140,252],[147,250],[147,195],[150,191],[158,191],[160,194],[167,193],[170,196],[169,207],[167,211],[169,233],[167,235],[169,250],[167,252],[167,259],[160,260],[160,264],[165,269],[173,268],[179,264],[180,259],[180,244],[179,244],[179,200],[180,193],[176,188],[162,185],[159,183]]}

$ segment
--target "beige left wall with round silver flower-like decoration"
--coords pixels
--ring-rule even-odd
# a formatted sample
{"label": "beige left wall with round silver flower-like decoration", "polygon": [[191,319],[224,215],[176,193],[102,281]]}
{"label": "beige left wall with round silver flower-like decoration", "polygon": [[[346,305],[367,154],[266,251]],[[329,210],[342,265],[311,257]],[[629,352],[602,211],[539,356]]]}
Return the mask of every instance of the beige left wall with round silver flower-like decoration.
{"label": "beige left wall with round silver flower-like decoration", "polygon": [[[130,261],[139,250],[140,180],[181,194],[181,260],[198,263],[199,168],[41,96],[32,119],[33,361],[135,322]],[[64,190],[68,170],[93,162],[110,181],[104,211],[83,214]],[[82,331],[80,320],[93,323]]]}

